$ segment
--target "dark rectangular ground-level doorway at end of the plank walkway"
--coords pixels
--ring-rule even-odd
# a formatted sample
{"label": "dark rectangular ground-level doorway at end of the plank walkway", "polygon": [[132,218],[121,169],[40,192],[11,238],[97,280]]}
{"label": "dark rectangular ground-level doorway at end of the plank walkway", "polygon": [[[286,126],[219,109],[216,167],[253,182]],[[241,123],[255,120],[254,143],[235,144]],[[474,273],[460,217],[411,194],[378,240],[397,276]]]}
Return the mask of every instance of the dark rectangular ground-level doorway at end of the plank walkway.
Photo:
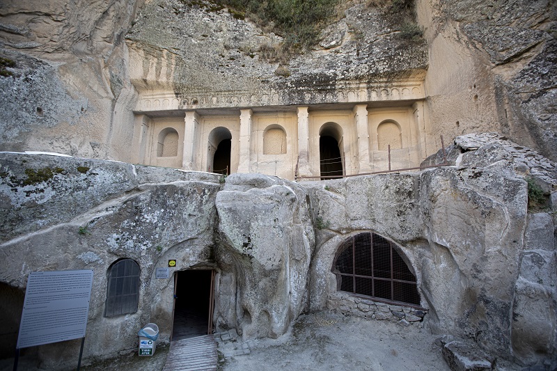
{"label": "dark rectangular ground-level doorway at end of the plank walkway", "polygon": [[175,273],[171,341],[212,333],[213,291],[213,270]]}

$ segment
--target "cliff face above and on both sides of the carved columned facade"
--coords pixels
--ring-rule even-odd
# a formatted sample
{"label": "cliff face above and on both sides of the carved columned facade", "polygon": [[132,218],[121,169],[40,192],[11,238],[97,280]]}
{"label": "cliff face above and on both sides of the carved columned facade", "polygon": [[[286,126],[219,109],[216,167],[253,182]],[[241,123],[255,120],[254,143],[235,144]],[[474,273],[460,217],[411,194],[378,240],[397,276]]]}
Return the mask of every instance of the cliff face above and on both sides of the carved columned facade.
{"label": "cliff face above and on both sides of the carved columned facade", "polygon": [[3,1],[0,149],[131,161],[138,92],[334,103],[347,86],[425,76],[432,132],[499,131],[555,159],[554,1],[418,0],[425,41],[374,3],[347,4],[315,49],[279,65],[265,51],[280,36],[208,3]]}

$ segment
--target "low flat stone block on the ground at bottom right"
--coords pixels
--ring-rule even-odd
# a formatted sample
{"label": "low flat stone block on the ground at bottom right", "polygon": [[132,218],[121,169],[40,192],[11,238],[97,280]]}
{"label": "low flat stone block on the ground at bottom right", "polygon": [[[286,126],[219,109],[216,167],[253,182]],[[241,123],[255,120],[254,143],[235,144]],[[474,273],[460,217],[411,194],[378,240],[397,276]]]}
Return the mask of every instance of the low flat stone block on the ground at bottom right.
{"label": "low flat stone block on the ground at bottom right", "polygon": [[476,345],[468,342],[448,342],[441,352],[453,371],[492,370],[493,359]]}

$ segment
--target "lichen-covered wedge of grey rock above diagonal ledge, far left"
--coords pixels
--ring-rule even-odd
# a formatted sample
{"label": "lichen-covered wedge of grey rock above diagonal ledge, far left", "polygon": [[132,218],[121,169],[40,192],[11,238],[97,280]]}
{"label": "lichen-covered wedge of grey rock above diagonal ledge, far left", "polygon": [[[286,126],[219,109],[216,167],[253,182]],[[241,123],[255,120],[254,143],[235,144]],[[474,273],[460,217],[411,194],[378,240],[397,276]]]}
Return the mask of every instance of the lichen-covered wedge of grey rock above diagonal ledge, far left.
{"label": "lichen-covered wedge of grey rock above diagonal ledge, far left", "polygon": [[0,242],[68,222],[136,187],[130,164],[0,153]]}

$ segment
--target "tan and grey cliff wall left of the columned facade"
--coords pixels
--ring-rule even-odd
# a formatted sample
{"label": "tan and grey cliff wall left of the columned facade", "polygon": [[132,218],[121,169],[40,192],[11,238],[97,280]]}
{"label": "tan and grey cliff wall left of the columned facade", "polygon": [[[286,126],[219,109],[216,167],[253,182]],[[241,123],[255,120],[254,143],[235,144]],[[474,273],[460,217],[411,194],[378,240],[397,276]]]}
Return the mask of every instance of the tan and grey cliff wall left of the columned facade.
{"label": "tan and grey cliff wall left of the columned facade", "polygon": [[[2,1],[0,150],[130,161],[134,91],[123,35],[140,1]],[[56,99],[53,99],[56,97]],[[129,128],[131,128],[130,126]]]}

